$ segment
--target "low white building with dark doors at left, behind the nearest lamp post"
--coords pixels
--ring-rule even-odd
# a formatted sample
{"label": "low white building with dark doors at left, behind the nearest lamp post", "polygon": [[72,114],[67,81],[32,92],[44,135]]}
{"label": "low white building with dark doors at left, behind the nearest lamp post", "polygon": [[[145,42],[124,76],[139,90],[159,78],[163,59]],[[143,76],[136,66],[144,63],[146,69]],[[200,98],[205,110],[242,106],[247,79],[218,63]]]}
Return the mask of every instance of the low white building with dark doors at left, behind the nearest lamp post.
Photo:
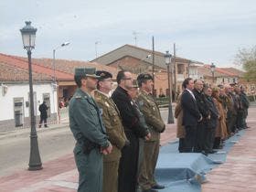
{"label": "low white building with dark doors at left, behind the nearest lamp post", "polygon": [[[0,130],[14,127],[29,127],[29,85],[28,82],[3,82],[0,86]],[[50,81],[36,82],[33,85],[34,110],[38,117],[39,105],[46,101],[48,105],[48,122],[56,121],[58,112],[57,91]],[[37,118],[38,122],[38,118]]]}

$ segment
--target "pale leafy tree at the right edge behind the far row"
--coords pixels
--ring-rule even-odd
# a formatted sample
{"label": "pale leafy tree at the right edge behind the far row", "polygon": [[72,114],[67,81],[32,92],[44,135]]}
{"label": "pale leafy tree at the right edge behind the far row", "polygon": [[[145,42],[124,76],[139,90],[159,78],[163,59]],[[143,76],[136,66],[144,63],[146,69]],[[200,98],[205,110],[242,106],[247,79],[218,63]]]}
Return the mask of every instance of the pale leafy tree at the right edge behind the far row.
{"label": "pale leafy tree at the right edge behind the far row", "polygon": [[246,71],[244,77],[256,80],[256,46],[252,48],[241,48],[236,55],[236,61]]}

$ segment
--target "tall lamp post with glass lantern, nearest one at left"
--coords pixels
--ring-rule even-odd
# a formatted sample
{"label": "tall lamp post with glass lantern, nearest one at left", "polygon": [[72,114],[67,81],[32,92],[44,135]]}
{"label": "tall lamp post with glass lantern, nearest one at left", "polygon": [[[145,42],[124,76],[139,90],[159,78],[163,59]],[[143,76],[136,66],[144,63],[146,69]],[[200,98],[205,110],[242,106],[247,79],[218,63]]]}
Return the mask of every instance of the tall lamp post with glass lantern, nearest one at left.
{"label": "tall lamp post with glass lantern, nearest one at left", "polygon": [[30,157],[28,170],[34,171],[42,169],[41,158],[37,142],[36,116],[34,111],[34,94],[32,81],[32,66],[31,66],[31,50],[35,48],[37,28],[31,26],[30,21],[26,21],[26,26],[20,29],[24,49],[27,50],[28,58],[28,76],[29,76],[29,103],[30,103]]}

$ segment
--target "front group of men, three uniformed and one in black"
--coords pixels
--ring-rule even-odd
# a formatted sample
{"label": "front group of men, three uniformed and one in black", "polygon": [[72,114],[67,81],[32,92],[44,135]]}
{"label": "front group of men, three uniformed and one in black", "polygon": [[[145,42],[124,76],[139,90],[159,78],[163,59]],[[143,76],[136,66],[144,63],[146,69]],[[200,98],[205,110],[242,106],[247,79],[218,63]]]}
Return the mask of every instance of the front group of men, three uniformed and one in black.
{"label": "front group of men, three uniformed and one in black", "polygon": [[140,74],[134,81],[129,71],[119,71],[112,96],[112,74],[107,71],[75,69],[74,78],[78,89],[69,101],[69,125],[77,141],[78,191],[164,188],[154,177],[165,123],[151,96],[152,76]]}

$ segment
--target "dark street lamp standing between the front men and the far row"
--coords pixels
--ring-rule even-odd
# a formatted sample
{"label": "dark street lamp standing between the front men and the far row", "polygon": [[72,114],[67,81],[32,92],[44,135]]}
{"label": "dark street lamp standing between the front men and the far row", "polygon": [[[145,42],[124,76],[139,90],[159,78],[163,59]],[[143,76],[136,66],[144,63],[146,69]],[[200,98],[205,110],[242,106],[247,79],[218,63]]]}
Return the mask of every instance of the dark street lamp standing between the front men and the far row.
{"label": "dark street lamp standing between the front men and the far row", "polygon": [[[172,82],[170,82],[170,65],[172,70],[172,64],[171,64],[172,55],[169,53],[169,51],[166,51],[164,57],[165,57],[165,64],[167,66],[168,90],[169,90],[169,107],[168,107],[168,122],[167,122],[169,124],[169,123],[175,123],[173,109],[172,109],[172,95],[173,95],[172,86],[171,86]],[[172,78],[173,77],[171,77],[171,80]]]}

